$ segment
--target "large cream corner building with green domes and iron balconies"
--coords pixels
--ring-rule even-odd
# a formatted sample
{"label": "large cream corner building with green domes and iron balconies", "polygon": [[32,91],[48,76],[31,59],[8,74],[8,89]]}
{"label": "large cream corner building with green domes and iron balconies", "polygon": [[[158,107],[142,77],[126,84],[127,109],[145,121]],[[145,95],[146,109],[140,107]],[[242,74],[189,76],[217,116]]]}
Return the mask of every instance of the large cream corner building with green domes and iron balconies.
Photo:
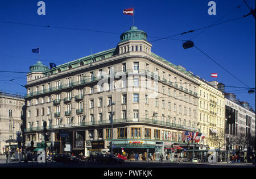
{"label": "large cream corner building with green domes and iron balconies", "polygon": [[27,145],[44,140],[44,121],[49,150],[60,153],[63,144],[86,156],[113,144],[114,153],[125,151],[131,158],[151,153],[158,159],[171,145],[184,144],[183,131],[199,132],[199,83],[151,47],[146,32],[131,27],[116,48],[52,69],[32,65],[25,97]]}

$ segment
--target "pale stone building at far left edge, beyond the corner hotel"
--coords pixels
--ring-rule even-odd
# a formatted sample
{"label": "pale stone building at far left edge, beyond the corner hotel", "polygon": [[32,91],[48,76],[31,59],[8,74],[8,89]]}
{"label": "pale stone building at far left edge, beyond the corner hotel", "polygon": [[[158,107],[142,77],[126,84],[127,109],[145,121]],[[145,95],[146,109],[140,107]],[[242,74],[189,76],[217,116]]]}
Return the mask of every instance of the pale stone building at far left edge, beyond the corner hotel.
{"label": "pale stone building at far left edge, beyond the corner hotel", "polygon": [[16,148],[25,99],[21,95],[0,92],[0,153]]}

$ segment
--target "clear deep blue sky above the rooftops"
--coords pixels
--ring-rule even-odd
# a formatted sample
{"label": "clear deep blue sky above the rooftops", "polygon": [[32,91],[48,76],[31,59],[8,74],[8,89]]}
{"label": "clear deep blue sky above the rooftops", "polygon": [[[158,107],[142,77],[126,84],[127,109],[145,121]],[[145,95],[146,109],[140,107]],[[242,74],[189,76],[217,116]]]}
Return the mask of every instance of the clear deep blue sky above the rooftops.
{"label": "clear deep blue sky above the rooftops", "polygon": [[[164,38],[238,18],[249,13],[242,0],[216,2],[216,15],[208,15],[208,2],[199,1],[58,1],[45,0],[46,15],[38,15],[38,0],[0,1],[0,21],[39,24],[102,32],[65,30],[24,26],[0,22],[0,70],[28,72],[29,66],[38,60],[32,48],[40,47],[40,59],[60,65],[91,53],[114,48],[122,32],[133,25],[133,17],[124,15],[123,9],[135,8],[135,26],[147,32],[148,41],[153,37]],[[255,1],[246,0],[251,7]],[[237,6],[242,5],[236,9]],[[232,11],[233,10],[233,11]],[[226,86],[246,87],[230,76],[220,66],[209,60],[195,47],[183,49],[181,40],[189,40],[196,31],[152,42],[152,52],[175,65],[181,65],[207,81],[210,73],[218,73],[218,81]],[[197,47],[233,73],[242,82],[255,88],[255,19],[253,16],[210,27],[192,39]],[[19,77],[19,78],[18,78]],[[14,81],[10,81],[13,78]],[[26,84],[26,74],[0,72],[0,90],[8,93],[26,93],[20,85]],[[241,101],[247,101],[255,109],[255,94],[247,94],[242,88],[226,88]]]}

